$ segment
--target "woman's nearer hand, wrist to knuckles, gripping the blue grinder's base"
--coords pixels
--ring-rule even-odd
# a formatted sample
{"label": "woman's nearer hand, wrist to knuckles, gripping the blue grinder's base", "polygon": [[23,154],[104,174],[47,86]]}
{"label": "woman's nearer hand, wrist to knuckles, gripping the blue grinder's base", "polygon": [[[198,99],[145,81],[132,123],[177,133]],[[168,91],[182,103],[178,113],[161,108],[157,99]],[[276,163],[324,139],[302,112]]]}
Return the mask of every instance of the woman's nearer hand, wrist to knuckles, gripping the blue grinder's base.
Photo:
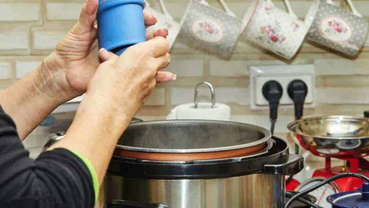
{"label": "woman's nearer hand, wrist to knuckles, gripping the blue grinder's base", "polygon": [[[163,37],[131,46],[120,56],[101,49],[104,62],[97,68],[87,94],[98,93],[116,110],[133,117],[155,87],[157,72],[170,63],[168,51],[169,44]],[[173,79],[169,73],[167,81]]]}

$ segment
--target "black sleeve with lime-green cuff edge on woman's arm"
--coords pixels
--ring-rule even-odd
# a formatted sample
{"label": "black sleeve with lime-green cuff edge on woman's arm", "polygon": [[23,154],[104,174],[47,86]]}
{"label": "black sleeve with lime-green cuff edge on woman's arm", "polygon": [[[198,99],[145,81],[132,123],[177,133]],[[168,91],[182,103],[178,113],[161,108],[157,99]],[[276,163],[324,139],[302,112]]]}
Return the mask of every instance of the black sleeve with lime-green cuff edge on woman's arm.
{"label": "black sleeve with lime-green cuff edge on woman's arm", "polygon": [[13,120],[0,106],[0,207],[92,208],[93,190],[87,166],[67,149],[30,159]]}

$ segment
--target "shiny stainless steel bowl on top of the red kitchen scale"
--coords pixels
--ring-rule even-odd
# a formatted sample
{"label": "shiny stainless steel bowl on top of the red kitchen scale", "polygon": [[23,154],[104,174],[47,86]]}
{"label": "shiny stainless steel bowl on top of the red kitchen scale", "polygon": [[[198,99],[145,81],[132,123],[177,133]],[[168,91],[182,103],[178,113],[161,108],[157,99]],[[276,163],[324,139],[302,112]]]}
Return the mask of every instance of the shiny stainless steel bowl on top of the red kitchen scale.
{"label": "shiny stainless steel bowl on top of the red kitchen scale", "polygon": [[307,117],[290,123],[291,137],[302,148],[319,156],[369,154],[369,120],[352,116]]}

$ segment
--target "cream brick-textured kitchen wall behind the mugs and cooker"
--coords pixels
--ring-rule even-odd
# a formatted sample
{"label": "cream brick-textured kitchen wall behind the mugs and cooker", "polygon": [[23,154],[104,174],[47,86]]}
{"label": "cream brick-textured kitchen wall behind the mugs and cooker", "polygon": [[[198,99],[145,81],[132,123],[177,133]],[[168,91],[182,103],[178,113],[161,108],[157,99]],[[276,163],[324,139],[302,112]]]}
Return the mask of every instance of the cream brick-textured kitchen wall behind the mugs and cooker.
{"label": "cream brick-textured kitchen wall behind the mugs and cooker", "polygon": [[[78,18],[83,0],[0,0],[0,89],[16,82],[33,70],[49,54]],[[149,0],[159,9],[156,0]],[[221,8],[215,0],[212,6]],[[226,0],[239,16],[251,0]],[[285,9],[282,1],[275,4]],[[303,18],[313,1],[291,0],[295,13]],[[359,12],[369,17],[369,1],[353,0]],[[165,0],[169,12],[179,21],[188,0]],[[344,0],[335,3],[347,8]],[[248,68],[252,65],[314,64],[318,105],[306,109],[305,115],[361,115],[369,104],[369,41],[356,60],[344,59],[332,52],[304,43],[295,60],[281,61],[275,55],[239,42],[231,61],[221,61],[194,51],[179,43],[172,49],[172,64],[167,70],[178,79],[159,84],[146,105],[141,118],[164,118],[175,105],[193,101],[194,87],[201,81],[215,86],[217,102],[232,107],[233,120],[269,128],[268,111],[249,108]],[[200,101],[209,100],[206,89],[200,90]],[[72,106],[70,109],[75,108]],[[281,110],[276,133],[285,135],[293,110]],[[37,145],[36,145],[37,146]],[[38,145],[39,146],[39,145]]]}

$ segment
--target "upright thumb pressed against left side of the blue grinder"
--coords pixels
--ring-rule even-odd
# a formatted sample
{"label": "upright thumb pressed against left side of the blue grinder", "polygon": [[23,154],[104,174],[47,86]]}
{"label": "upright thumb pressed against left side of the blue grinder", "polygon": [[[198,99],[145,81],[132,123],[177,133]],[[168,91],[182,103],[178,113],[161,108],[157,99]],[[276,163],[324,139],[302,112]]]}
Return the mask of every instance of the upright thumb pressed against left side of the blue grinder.
{"label": "upright thumb pressed against left side of the blue grinder", "polygon": [[90,32],[96,20],[98,0],[87,0],[82,7],[79,20],[76,24],[76,32],[84,34]]}

